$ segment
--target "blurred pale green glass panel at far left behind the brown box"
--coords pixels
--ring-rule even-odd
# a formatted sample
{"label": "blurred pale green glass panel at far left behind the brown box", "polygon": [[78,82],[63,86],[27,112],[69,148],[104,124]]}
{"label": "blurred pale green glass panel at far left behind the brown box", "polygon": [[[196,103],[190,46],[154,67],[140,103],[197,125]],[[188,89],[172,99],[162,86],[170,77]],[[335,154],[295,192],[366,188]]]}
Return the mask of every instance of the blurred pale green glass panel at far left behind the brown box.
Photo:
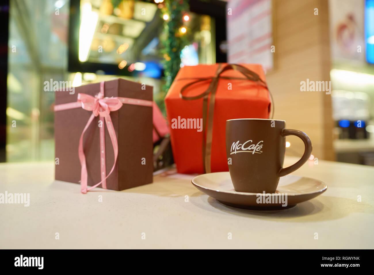
{"label": "blurred pale green glass panel at far left behind the brown box", "polygon": [[10,1],[7,161],[54,158],[52,91],[44,81],[64,80],[69,1]]}

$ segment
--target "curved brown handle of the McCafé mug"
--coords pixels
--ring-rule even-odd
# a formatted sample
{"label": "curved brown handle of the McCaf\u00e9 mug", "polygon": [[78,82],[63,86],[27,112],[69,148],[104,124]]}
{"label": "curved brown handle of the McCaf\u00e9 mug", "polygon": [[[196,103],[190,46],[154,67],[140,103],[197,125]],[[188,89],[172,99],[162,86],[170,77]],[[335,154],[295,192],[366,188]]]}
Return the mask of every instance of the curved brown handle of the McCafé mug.
{"label": "curved brown handle of the McCaf\u00e9 mug", "polygon": [[298,162],[286,168],[281,168],[281,170],[279,170],[279,177],[283,177],[299,169],[309,159],[309,156],[312,153],[312,143],[310,142],[310,138],[304,132],[292,129],[282,129],[281,135],[283,137],[286,137],[288,135],[295,135],[301,138],[301,140],[304,142],[305,150],[303,156],[301,157],[301,159],[298,160]]}

